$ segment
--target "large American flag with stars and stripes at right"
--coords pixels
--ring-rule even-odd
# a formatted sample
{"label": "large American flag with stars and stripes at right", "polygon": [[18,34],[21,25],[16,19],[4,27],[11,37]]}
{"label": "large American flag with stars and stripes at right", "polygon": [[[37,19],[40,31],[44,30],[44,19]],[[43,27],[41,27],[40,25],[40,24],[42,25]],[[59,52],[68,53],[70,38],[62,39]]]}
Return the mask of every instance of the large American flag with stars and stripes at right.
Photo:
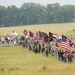
{"label": "large American flag with stars and stripes at right", "polygon": [[64,35],[62,35],[61,46],[67,50],[73,50],[72,41]]}

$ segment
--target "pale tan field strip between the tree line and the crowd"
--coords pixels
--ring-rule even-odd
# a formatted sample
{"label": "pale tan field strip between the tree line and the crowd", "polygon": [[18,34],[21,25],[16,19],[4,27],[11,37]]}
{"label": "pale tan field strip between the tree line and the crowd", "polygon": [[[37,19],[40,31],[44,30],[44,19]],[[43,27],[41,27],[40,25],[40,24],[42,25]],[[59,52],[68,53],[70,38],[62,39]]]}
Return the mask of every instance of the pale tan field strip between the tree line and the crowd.
{"label": "pale tan field strip between the tree line and the crowd", "polygon": [[40,24],[40,25],[27,25],[27,26],[17,26],[17,27],[5,27],[0,28],[0,35],[12,35],[12,30],[16,31],[18,35],[23,35],[23,30],[31,30],[36,33],[36,31],[53,32],[55,34],[75,34],[75,23],[60,23],[60,24]]}

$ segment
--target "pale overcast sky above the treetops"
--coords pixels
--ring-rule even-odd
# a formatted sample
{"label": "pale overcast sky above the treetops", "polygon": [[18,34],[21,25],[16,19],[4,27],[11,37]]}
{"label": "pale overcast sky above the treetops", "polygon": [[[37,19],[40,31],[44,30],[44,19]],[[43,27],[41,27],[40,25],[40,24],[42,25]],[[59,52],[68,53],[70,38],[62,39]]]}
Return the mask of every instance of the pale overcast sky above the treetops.
{"label": "pale overcast sky above the treetops", "polygon": [[21,7],[21,5],[26,2],[40,3],[41,5],[46,5],[50,3],[59,3],[60,5],[65,4],[75,5],[75,0],[0,0],[0,5],[2,6],[15,5],[17,7]]}

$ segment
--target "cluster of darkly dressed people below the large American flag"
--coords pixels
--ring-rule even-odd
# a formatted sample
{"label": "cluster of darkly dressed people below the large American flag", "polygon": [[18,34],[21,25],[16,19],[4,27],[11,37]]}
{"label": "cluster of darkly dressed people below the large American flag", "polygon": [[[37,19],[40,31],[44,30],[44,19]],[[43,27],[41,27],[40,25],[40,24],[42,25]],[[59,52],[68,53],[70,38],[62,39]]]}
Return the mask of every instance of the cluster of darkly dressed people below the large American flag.
{"label": "cluster of darkly dressed people below the large American flag", "polygon": [[66,63],[75,62],[75,52],[74,51],[58,51],[59,61],[64,61]]}

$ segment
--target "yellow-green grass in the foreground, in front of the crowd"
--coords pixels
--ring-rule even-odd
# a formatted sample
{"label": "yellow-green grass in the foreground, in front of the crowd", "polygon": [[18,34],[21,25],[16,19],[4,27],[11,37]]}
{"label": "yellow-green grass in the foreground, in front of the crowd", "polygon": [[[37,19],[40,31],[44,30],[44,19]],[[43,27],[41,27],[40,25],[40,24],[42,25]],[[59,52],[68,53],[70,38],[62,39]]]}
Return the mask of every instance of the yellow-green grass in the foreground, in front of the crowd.
{"label": "yellow-green grass in the foreground, in front of the crowd", "polygon": [[0,47],[0,75],[75,75],[74,65],[22,46]]}

